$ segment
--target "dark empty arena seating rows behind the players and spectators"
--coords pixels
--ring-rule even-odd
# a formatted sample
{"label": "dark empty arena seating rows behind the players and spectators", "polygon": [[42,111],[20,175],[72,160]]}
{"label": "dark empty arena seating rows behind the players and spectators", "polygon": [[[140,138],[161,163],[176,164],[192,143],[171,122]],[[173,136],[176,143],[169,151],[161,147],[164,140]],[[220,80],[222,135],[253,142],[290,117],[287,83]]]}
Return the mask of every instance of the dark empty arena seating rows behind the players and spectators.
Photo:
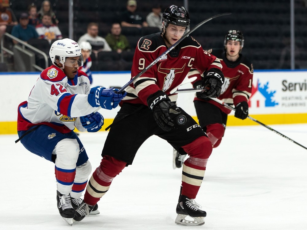
{"label": "dark empty arena seating rows behind the players and spectators", "polygon": [[[11,8],[18,18],[21,12],[32,2],[38,10],[42,0],[11,0]],[[151,1],[138,0],[138,11],[146,17],[151,12]],[[164,0],[162,10],[167,6],[175,4],[182,6],[184,1]],[[59,19],[59,27],[64,37],[68,37],[68,1],[51,0],[52,8]],[[307,68],[307,8],[305,1],[295,1],[295,47],[296,68]],[[106,36],[110,31],[111,23],[117,21],[120,12],[126,9],[126,0],[74,0],[74,37],[86,33],[89,22],[99,23],[99,35]],[[191,28],[204,19],[220,13],[230,12],[230,16],[215,18],[201,26],[191,36],[204,47],[223,48],[224,36],[229,29],[239,29],[245,37],[243,54],[254,64],[255,69],[289,69],[290,68],[290,1],[288,0],[188,0],[188,11],[190,13]],[[131,42],[132,48],[136,47],[141,36],[151,31],[133,31],[123,29]],[[125,57],[126,59],[126,57]],[[117,60],[125,62],[130,66],[132,60]],[[100,60],[97,60],[99,63]],[[99,66],[101,66],[100,64]],[[123,68],[120,64],[108,64],[110,69]],[[125,67],[128,69],[128,67]],[[99,70],[98,64],[95,67]],[[103,67],[105,70],[106,67]],[[102,69],[101,69],[102,70]]]}

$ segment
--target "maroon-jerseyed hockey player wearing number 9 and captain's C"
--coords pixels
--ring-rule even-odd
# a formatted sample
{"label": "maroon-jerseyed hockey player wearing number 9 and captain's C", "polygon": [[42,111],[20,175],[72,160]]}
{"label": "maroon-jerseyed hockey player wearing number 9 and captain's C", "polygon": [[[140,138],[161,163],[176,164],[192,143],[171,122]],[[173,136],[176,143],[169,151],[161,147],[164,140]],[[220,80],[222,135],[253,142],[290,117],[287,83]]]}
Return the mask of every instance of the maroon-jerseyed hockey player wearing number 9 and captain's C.
{"label": "maroon-jerseyed hockey player wearing number 9 and captain's C", "polygon": [[[162,33],[142,37],[136,48],[131,76],[136,76],[189,31],[190,19],[184,7],[169,6],[162,17]],[[177,94],[170,94],[188,74],[191,67],[204,74],[204,97],[217,97],[224,81],[221,63],[204,52],[191,36],[186,37],[171,52],[162,56],[135,82],[126,88],[126,98],[111,125],[104,144],[103,159],[90,178],[84,204],[76,210],[82,220],[109,190],[112,180],[132,164],[142,143],[152,135],[166,140],[174,148],[183,148],[189,155],[182,171],[182,186],[177,204],[176,224],[202,225],[206,212],[194,201],[203,181],[212,144],[204,131],[183,109],[177,107]],[[119,149],[114,143],[121,139]],[[132,180],[133,181],[133,180]],[[163,196],[163,195],[160,195]],[[190,216],[194,219],[185,220]],[[78,218],[75,218],[77,220]]]}

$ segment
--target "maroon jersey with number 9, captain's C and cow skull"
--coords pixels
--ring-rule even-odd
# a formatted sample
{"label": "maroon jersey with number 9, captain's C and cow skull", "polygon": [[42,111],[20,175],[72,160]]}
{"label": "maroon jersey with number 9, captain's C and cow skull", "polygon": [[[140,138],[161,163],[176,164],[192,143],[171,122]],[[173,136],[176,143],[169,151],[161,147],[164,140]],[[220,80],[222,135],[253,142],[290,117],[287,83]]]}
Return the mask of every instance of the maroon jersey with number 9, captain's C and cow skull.
{"label": "maroon jersey with number 9, captain's C and cow skull", "polygon": [[[166,50],[167,47],[161,33],[142,37],[135,49],[131,77],[136,76]],[[148,96],[158,90],[169,95],[170,91],[185,79],[192,66],[200,73],[211,68],[221,69],[222,67],[216,56],[204,51],[194,38],[188,36],[128,86],[127,96],[122,102],[147,105]],[[172,94],[169,98],[176,101],[177,94]]]}

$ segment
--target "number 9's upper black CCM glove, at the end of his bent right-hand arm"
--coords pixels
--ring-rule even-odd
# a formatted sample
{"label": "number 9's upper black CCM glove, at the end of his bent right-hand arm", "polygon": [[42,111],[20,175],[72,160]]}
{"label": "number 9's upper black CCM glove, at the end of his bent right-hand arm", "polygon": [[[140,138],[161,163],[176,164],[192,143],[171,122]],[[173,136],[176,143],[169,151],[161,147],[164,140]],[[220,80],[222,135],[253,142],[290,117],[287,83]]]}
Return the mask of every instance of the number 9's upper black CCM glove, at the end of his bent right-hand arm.
{"label": "number 9's upper black CCM glove, at the end of his bent right-hand arm", "polygon": [[205,89],[201,93],[202,98],[218,98],[221,94],[222,85],[224,83],[224,75],[222,71],[216,68],[209,69],[205,73],[204,81],[201,88]]}

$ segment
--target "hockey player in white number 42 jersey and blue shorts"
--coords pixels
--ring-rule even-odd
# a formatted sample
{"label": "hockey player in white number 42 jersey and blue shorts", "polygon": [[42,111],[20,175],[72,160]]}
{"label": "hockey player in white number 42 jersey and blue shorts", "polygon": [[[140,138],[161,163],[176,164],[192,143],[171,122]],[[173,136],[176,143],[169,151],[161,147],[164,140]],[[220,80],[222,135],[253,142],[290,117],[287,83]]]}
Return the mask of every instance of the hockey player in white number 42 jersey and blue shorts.
{"label": "hockey player in white number 42 jersey and blue shorts", "polygon": [[91,173],[87,153],[73,130],[97,132],[103,116],[95,110],[115,108],[126,93],[90,88],[87,75],[78,70],[83,65],[81,48],[71,39],[55,41],[49,56],[52,66],[41,72],[27,101],[18,106],[18,140],[30,152],[55,163],[57,206],[72,225]]}

